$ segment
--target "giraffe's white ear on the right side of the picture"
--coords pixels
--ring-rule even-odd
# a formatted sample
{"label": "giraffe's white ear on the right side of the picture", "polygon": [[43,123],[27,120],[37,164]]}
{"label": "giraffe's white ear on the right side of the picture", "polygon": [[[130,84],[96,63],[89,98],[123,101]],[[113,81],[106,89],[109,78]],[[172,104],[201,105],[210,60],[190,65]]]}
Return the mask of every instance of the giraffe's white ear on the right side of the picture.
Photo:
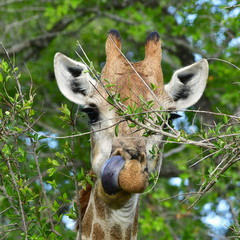
{"label": "giraffe's white ear on the right side of the picture", "polygon": [[176,109],[194,105],[202,96],[208,78],[208,62],[202,59],[190,66],[177,70],[165,85],[166,92],[173,98]]}

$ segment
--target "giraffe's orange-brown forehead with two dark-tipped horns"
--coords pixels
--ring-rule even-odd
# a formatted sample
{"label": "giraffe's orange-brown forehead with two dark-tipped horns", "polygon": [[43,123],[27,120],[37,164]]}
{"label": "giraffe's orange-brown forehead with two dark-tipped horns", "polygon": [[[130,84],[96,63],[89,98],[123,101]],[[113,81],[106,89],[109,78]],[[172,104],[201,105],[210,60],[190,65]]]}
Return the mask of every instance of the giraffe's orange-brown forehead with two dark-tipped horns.
{"label": "giraffe's orange-brown forehead with two dark-tipped horns", "polygon": [[[131,63],[132,67],[122,56],[120,49],[120,38],[109,34],[106,41],[107,61],[102,71],[102,82],[104,82],[104,79],[110,80],[112,84],[116,85],[112,89],[120,93],[122,99],[130,97],[124,102],[126,105],[137,103],[137,105],[144,106],[144,103],[139,98],[140,94],[144,96],[145,101],[154,99],[150,91],[146,91],[145,84],[149,87],[151,87],[151,84],[154,84],[157,87],[154,94],[157,96],[161,95],[162,105],[164,105],[164,102],[172,102],[170,96],[164,90],[163,74],[160,65],[162,56],[161,41],[158,38],[148,39],[145,45],[145,59]],[[142,80],[139,78],[139,75],[142,77]]]}

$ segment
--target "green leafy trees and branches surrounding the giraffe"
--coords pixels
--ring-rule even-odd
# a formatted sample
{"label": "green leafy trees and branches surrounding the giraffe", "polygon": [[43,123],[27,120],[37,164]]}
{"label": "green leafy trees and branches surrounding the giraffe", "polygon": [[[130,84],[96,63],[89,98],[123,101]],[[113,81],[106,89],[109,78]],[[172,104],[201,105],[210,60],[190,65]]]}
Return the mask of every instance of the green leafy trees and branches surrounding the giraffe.
{"label": "green leafy trees and branches surrounding the giraffe", "polygon": [[[204,96],[174,123],[185,131],[166,131],[160,178],[152,176],[142,196],[139,239],[240,237],[239,12],[226,0],[1,1],[1,239],[74,239],[63,219],[77,218],[72,200],[91,183],[89,130],[57,90],[52,61],[58,51],[83,55],[78,40],[100,72],[112,28],[131,61],[143,58],[146,33],[158,31],[166,82],[200,57],[210,64]],[[128,111],[141,126],[146,115]],[[193,126],[198,131],[187,134]],[[80,136],[61,138],[72,135]],[[227,227],[207,224],[217,216]]]}

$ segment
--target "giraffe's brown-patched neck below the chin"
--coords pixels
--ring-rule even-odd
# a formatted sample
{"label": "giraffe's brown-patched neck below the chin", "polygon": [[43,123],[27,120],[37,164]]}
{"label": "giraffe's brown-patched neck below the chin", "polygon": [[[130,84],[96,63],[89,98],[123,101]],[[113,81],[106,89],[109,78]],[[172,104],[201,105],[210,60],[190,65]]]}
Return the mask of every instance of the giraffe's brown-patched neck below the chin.
{"label": "giraffe's brown-patched neck below the chin", "polygon": [[109,205],[99,197],[98,184],[95,183],[82,220],[82,239],[136,239],[138,202],[138,194],[133,194],[121,207],[115,208],[116,205]]}

